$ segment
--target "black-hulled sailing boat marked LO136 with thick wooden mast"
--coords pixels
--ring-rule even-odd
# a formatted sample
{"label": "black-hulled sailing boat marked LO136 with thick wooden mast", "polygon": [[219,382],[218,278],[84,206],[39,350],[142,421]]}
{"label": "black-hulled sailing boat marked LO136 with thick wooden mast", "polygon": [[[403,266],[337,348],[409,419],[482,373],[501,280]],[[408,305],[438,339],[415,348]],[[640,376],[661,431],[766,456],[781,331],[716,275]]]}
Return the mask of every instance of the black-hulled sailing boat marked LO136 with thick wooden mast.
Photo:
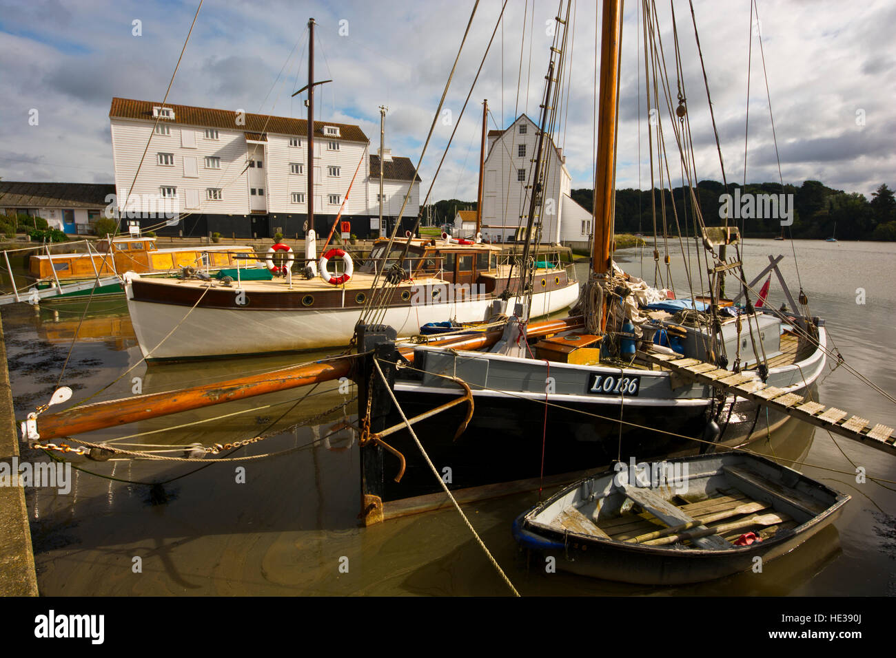
{"label": "black-hulled sailing boat marked LO136 with thick wooden mast", "polygon": [[[559,34],[566,26],[557,21]],[[425,416],[434,407],[456,403],[461,395],[470,398],[475,409],[471,417],[467,406],[457,405],[421,420],[417,430],[426,436],[432,462],[450,469],[455,488],[531,483],[625,455],[674,457],[741,445],[755,435],[760,411],[748,391],[764,390],[790,406],[801,404],[823,372],[823,320],[798,312],[796,303],[795,314],[782,317],[767,307],[749,301],[738,306],[720,295],[726,271],[737,270],[743,278],[737,258],[725,258],[726,250],[737,252],[737,228],[703,229],[703,243],[712,255],[708,296],[680,299],[674,291],[652,288],[626,274],[613,261],[621,29],[621,3],[605,0],[595,230],[590,278],[578,304],[581,315],[569,318],[567,327],[554,335],[533,338],[521,304],[506,313],[513,319],[490,351],[420,345],[414,347],[412,363],[395,346],[382,344],[388,331],[368,328],[371,335],[359,341],[359,350],[378,350],[379,363],[391,367],[388,383],[397,406],[384,400],[391,410],[383,414],[383,427],[401,424],[399,407],[405,416]],[[550,85],[558,77],[560,57],[562,47],[552,47],[542,134],[550,124]],[[533,209],[535,203],[533,199]],[[530,211],[530,235],[535,214]],[[726,392],[692,377],[686,368],[724,382]],[[376,391],[368,394],[383,401]],[[762,434],[787,417],[780,410],[767,418],[763,414]],[[458,436],[463,427],[466,431]],[[393,434],[389,446],[389,452],[404,456],[401,482],[383,477],[389,470],[384,462],[391,459],[387,453],[375,444],[362,447],[362,486],[369,500],[438,491],[408,432]]]}

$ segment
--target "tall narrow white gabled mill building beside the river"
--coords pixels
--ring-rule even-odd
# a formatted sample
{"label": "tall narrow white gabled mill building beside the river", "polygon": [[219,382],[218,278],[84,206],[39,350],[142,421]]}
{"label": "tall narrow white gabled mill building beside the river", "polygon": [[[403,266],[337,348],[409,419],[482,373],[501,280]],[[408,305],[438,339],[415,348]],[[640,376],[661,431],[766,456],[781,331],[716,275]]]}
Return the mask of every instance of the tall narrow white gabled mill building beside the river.
{"label": "tall narrow white gabled mill building beside the river", "polygon": [[[528,221],[531,177],[538,150],[538,125],[520,115],[504,131],[488,132],[488,155],[482,193],[482,237],[505,242],[519,238]],[[570,196],[572,178],[566,158],[554,141],[544,143],[545,217],[541,242],[587,241],[591,214]]]}

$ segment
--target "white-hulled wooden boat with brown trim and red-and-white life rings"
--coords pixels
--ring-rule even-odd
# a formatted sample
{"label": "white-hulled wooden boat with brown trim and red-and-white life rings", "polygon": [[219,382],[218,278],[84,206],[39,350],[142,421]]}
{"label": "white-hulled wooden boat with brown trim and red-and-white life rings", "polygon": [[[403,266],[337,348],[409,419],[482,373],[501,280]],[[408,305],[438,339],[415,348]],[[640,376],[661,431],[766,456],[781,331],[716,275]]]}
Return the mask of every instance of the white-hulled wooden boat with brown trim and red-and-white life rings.
{"label": "white-hulled wooden boat with brown trim and red-and-white life rings", "polygon": [[[314,25],[314,19],[308,21],[312,43]],[[308,94],[309,172],[314,170],[314,133],[323,135],[314,125],[317,84],[314,49],[309,48],[304,88]],[[314,199],[314,177],[307,178],[307,199]],[[350,185],[346,199],[349,192]],[[382,195],[380,199],[382,203]],[[314,226],[310,203],[307,226]],[[399,242],[381,238],[356,269],[351,255],[338,248],[324,252],[315,263],[316,244],[311,234],[309,231],[302,263],[309,278],[293,278],[295,257],[282,244],[272,249],[288,252],[285,266],[275,264],[272,256],[268,263],[285,277],[250,279],[246,272],[237,271],[235,277],[221,279],[158,279],[126,273],[128,311],[143,357],[147,361],[185,360],[347,346],[361,312],[375,294],[376,282],[393,266],[400,267],[401,282],[383,308],[381,321],[402,337],[418,334],[422,326],[434,322],[483,323],[495,317],[496,304],[509,301],[513,308],[521,301],[521,278],[506,262],[507,255],[499,247],[483,244],[478,236],[453,240],[444,235],[437,240],[408,235],[406,241]],[[341,271],[336,269],[339,262]],[[540,286],[530,303],[533,317],[560,311],[578,298],[573,267],[561,263],[559,253],[545,254],[535,273]]]}

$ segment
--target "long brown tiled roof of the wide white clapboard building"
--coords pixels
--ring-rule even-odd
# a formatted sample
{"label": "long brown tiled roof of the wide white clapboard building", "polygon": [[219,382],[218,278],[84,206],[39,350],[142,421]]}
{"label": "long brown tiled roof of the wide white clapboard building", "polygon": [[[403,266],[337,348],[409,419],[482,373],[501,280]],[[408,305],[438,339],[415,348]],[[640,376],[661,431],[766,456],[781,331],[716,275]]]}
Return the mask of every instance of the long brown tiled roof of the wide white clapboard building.
{"label": "long brown tiled roof of the wide white clapboard building", "polygon": [[[112,98],[109,117],[120,119],[143,119],[155,121],[152,108],[161,106],[160,102],[149,100],[131,100],[129,98]],[[246,124],[237,124],[237,113],[232,110],[210,109],[208,107],[191,107],[166,103],[165,107],[174,110],[174,119],[159,119],[159,123],[184,124],[221,128],[224,130],[244,130],[246,132],[275,132],[281,135],[305,137],[308,134],[306,119],[291,119],[287,116],[249,115]],[[332,125],[340,129],[339,137],[323,134],[323,126]],[[314,122],[314,137],[327,140],[369,141],[366,134],[357,125],[333,124],[328,121]]]}

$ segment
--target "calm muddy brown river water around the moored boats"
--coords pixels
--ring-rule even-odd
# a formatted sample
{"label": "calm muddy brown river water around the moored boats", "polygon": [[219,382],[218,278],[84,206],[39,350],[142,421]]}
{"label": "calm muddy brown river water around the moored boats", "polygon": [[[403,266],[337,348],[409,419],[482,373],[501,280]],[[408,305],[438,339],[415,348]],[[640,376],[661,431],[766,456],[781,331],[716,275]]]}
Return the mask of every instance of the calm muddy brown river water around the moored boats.
{"label": "calm muddy brown river water around the moored boats", "polygon": [[[833,345],[847,363],[881,388],[896,392],[896,244],[797,241],[799,278],[815,315],[827,320]],[[797,269],[790,243],[751,240],[745,245],[747,276],[785,256],[780,268],[794,295]],[[680,262],[670,243],[673,262]],[[730,255],[730,254],[729,254]],[[650,249],[617,254],[628,272],[653,282]],[[582,275],[585,264],[579,268]],[[673,280],[686,289],[684,269]],[[665,272],[663,273],[665,277]],[[761,286],[762,282],[758,284]],[[862,289],[861,291],[859,289]],[[859,295],[864,291],[864,303]],[[729,288],[730,292],[730,288]],[[783,295],[772,281],[771,303]],[[83,305],[6,306],[3,323],[17,414],[47,401],[59,380]],[[208,329],[197,340],[214,340]],[[125,301],[91,304],[78,332],[62,383],[75,399],[92,401],[163,391],[246,372],[261,372],[315,355],[234,360],[225,363],[147,367],[140,362]],[[264,337],[258,337],[263,341]],[[318,355],[319,356],[319,355]],[[132,372],[128,369],[134,367]],[[873,423],[896,421],[894,407],[845,368],[828,371],[819,386],[823,402]],[[178,414],[85,436],[159,444],[210,446],[289,428],[339,406],[354,395],[332,385],[288,391],[240,403]],[[47,595],[133,594],[484,594],[507,590],[461,518],[452,509],[358,527],[358,447],[345,431],[332,432],[346,411],[286,429],[242,454],[294,449],[243,464],[161,465],[141,461],[79,462],[72,491],[26,493],[38,583]],[[240,412],[235,414],[236,412]],[[222,414],[232,414],[220,419]],[[215,419],[170,430],[168,428]],[[527,569],[510,532],[513,518],[537,500],[521,494],[465,507],[478,533],[521,594],[896,594],[896,484],[857,483],[855,471],[896,481],[896,457],[789,422],[754,444],[770,456],[797,459],[806,474],[852,495],[835,526],[761,574],[676,588],[620,585]],[[839,447],[838,447],[839,446]],[[178,454],[178,453],[169,453]],[[45,459],[43,453],[24,457]],[[237,474],[245,467],[245,478]],[[387,468],[389,464],[387,462]],[[245,479],[245,482],[239,480]],[[151,487],[151,483],[164,483]],[[135,560],[140,558],[140,560]],[[135,562],[142,570],[135,573]]]}

